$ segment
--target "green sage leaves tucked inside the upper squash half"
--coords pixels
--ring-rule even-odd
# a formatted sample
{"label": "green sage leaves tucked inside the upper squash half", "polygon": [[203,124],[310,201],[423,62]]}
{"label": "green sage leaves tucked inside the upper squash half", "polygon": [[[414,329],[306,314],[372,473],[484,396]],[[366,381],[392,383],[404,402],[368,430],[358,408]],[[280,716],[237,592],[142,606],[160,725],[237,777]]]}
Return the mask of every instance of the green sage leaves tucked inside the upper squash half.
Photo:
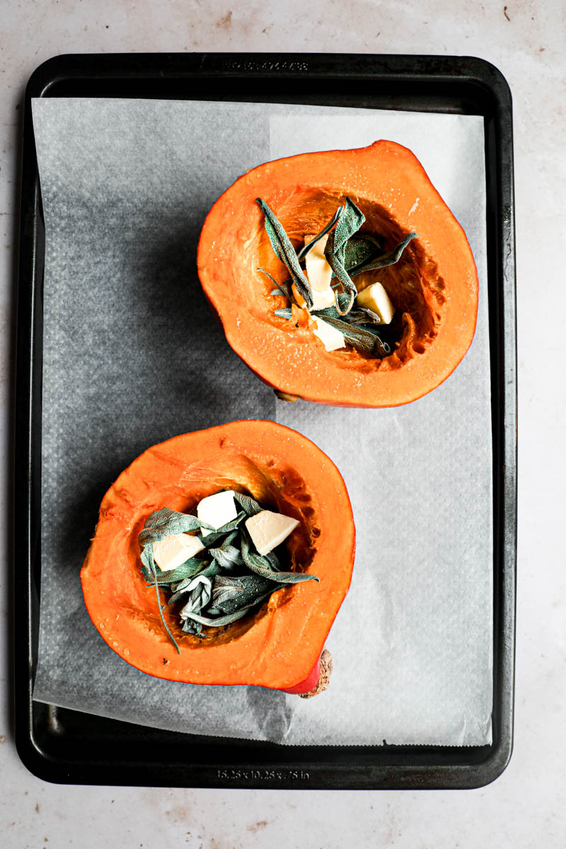
{"label": "green sage leaves tucked inside the upper squash half", "polygon": [[[275,289],[270,294],[283,295],[289,301],[289,306],[275,309],[274,315],[291,321],[293,319],[291,305],[296,304],[307,309],[310,314],[314,313],[313,318],[321,318],[323,322],[339,330],[345,343],[353,346],[357,351],[363,351],[373,357],[387,357],[393,345],[387,330],[388,323],[378,312],[358,304],[357,296],[361,293],[358,293],[352,278],[400,261],[406,246],[412,239],[417,238],[417,233],[407,233],[392,250],[385,251],[378,238],[368,233],[358,232],[366,220],[365,216],[353,200],[346,198],[345,205],[339,206],[328,224],[297,253],[283,225],[265,200],[256,198],[256,202],[264,213],[266,233],[272,249],[290,274],[289,280],[277,283],[277,280],[264,268],[258,268],[258,271],[266,274],[275,284]],[[331,285],[334,290],[334,304],[316,309],[313,308],[313,290],[304,271],[305,257],[327,233],[324,256],[332,269],[333,283]],[[380,284],[376,286],[380,287]],[[380,288],[383,289],[383,287]],[[383,292],[381,296],[383,297]],[[300,299],[302,303],[299,302]],[[367,297],[364,300],[374,302]],[[317,327],[320,328],[318,322]]]}

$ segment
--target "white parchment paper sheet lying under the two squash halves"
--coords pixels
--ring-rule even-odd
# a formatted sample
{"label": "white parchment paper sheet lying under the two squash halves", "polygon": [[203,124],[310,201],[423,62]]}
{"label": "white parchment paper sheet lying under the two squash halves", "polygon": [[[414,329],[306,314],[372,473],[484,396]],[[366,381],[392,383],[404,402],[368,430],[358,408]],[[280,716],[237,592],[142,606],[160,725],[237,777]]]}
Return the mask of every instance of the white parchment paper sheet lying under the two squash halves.
{"label": "white parchment paper sheet lying under the two squash halves", "polygon": [[[160,728],[287,744],[489,743],[482,119],[72,98],[38,99],[33,117],[47,242],[34,698]],[[202,222],[249,167],[377,138],[415,152],[468,234],[481,287],[474,344],[444,385],[402,408],[276,405],[205,304],[195,265]],[[242,418],[277,419],[309,436],[338,464],[350,492],[354,579],[328,640],[331,687],[316,699],[150,678],[104,644],[84,607],[82,559],[100,500],[120,471],[156,442]]]}

